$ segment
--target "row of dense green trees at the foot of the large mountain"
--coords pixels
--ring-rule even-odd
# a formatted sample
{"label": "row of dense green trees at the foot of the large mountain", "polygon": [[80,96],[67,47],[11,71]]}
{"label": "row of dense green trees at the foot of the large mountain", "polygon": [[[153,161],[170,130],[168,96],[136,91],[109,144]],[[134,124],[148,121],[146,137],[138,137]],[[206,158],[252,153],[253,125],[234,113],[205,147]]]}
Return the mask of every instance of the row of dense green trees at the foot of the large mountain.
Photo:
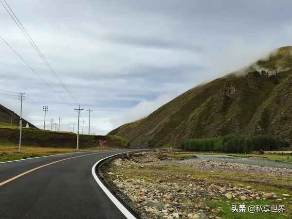
{"label": "row of dense green trees at the foot of the large mountain", "polygon": [[182,143],[186,151],[239,152],[268,151],[280,147],[289,147],[286,142],[277,140],[271,135],[226,135],[215,138],[190,139]]}

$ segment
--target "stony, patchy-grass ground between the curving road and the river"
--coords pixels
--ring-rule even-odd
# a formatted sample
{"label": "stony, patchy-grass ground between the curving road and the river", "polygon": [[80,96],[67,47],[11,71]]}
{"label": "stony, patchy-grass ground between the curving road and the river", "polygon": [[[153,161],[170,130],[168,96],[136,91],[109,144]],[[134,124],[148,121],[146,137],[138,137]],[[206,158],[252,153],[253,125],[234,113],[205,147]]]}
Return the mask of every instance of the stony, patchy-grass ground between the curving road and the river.
{"label": "stony, patchy-grass ground between the curving road and the river", "polygon": [[[191,158],[186,154],[185,157]],[[165,152],[139,152],[102,166],[106,183],[141,219],[265,218],[231,212],[232,204],[284,204],[292,215],[292,170],[194,161]]]}

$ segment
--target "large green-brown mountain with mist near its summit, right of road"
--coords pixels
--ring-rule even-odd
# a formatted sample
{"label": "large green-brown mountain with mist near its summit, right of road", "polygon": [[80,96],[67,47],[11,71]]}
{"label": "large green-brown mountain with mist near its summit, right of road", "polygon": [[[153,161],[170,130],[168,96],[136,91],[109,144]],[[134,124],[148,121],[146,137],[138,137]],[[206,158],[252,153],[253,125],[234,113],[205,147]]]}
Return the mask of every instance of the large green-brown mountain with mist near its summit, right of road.
{"label": "large green-brown mountain with mist near its summit, right of road", "polygon": [[196,86],[109,133],[135,147],[178,147],[184,139],[228,134],[271,134],[292,143],[292,47]]}

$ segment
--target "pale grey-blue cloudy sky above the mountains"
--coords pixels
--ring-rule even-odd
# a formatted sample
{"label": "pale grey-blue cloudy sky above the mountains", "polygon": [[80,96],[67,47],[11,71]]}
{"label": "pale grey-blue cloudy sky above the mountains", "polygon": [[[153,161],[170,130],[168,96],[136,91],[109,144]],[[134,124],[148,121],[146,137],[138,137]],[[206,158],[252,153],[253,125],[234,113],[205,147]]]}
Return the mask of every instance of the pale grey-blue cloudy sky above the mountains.
{"label": "pale grey-blue cloudy sky above the mountains", "polygon": [[[3,2],[3,0],[1,0]],[[73,98],[0,5],[0,104],[43,127],[84,133],[139,118],[184,91],[292,45],[291,0],[6,0]],[[57,95],[58,94],[58,95]],[[59,97],[61,96],[61,98]],[[82,123],[80,132],[82,132]]]}

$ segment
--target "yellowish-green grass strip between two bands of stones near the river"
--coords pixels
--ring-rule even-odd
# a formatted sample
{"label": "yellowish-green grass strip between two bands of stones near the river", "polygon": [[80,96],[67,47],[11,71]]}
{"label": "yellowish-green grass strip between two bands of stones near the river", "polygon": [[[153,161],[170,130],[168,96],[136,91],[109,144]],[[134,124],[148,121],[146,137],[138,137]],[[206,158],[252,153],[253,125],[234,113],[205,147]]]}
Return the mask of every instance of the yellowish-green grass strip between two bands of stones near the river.
{"label": "yellowish-green grass strip between two bands of stones near the river", "polygon": [[[191,175],[193,179],[207,180],[216,184],[230,184],[237,186],[242,184],[244,186],[251,185],[253,188],[265,192],[279,192],[288,193],[292,196],[292,177],[282,177],[270,174],[259,173],[238,173],[238,172],[215,172],[215,171],[200,171],[196,168],[185,168],[169,165],[154,165],[147,168],[121,168],[117,169],[121,173],[133,179],[140,179],[145,177],[149,179],[162,178],[163,176],[171,176],[175,179],[177,176],[185,177]],[[176,181],[176,180],[175,180]],[[288,190],[290,189],[290,191]]]}

